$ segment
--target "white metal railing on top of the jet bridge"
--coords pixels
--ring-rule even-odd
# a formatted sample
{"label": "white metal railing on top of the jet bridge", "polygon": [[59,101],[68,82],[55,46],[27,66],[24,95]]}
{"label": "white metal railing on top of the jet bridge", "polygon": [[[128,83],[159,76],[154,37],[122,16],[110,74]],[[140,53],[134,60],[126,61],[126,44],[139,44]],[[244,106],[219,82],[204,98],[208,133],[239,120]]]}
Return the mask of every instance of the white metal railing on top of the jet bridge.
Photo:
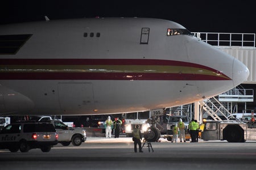
{"label": "white metal railing on top of the jet bridge", "polygon": [[214,46],[255,48],[255,33],[192,32],[197,38]]}

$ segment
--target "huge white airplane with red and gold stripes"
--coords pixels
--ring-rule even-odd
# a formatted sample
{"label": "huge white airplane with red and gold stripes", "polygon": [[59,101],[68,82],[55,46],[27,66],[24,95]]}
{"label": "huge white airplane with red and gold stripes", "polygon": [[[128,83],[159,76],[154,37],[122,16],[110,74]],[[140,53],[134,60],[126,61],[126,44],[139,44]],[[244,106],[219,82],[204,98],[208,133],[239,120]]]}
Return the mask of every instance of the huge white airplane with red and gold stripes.
{"label": "huge white airplane with red and gold stripes", "polygon": [[238,59],[170,20],[0,25],[0,116],[174,107],[228,91],[248,75]]}

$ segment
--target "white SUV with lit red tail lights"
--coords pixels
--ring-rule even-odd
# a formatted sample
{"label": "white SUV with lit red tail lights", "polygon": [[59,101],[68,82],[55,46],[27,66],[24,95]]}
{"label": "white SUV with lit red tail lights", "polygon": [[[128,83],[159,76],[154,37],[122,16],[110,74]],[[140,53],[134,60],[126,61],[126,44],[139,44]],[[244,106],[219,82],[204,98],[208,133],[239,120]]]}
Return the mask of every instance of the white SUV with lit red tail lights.
{"label": "white SUV with lit red tail lights", "polygon": [[49,122],[17,122],[0,131],[0,149],[11,152],[28,152],[32,148],[49,152],[57,140],[58,134]]}

